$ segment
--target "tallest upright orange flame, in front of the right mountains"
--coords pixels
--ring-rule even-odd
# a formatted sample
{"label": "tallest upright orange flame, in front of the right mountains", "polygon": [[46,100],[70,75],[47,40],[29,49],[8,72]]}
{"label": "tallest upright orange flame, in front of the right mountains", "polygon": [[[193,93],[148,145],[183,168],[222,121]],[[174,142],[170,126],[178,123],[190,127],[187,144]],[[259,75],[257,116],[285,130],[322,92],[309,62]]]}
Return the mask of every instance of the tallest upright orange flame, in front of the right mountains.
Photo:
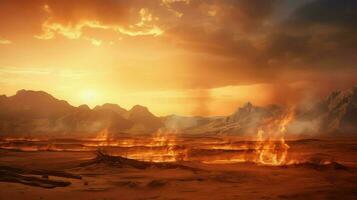
{"label": "tallest upright orange flame, in front of the right mountains", "polygon": [[262,165],[286,164],[289,145],[285,142],[286,126],[293,120],[294,113],[288,111],[278,118],[265,120],[258,129],[255,162]]}

